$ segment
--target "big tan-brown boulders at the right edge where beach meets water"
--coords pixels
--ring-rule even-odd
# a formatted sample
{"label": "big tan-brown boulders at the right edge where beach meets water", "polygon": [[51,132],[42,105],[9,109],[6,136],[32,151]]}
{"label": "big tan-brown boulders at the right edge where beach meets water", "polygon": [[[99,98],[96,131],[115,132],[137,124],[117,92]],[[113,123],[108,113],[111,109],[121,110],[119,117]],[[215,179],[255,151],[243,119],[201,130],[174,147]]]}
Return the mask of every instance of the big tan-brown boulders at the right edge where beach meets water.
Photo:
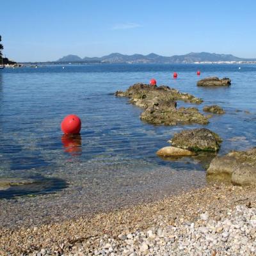
{"label": "big tan-brown boulders at the right edge where beach meets water", "polygon": [[256,147],[215,157],[207,169],[207,177],[229,179],[235,185],[255,185]]}

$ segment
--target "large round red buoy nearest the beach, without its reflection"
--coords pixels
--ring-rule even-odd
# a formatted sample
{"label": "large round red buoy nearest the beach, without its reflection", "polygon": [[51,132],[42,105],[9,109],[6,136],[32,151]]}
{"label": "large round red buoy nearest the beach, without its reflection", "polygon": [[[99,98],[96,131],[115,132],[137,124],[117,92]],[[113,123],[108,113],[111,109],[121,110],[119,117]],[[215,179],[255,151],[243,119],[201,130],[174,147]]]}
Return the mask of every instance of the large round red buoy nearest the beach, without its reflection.
{"label": "large round red buoy nearest the beach, without its reflection", "polygon": [[76,115],[68,115],[61,122],[61,130],[65,134],[78,134],[81,130],[81,120]]}

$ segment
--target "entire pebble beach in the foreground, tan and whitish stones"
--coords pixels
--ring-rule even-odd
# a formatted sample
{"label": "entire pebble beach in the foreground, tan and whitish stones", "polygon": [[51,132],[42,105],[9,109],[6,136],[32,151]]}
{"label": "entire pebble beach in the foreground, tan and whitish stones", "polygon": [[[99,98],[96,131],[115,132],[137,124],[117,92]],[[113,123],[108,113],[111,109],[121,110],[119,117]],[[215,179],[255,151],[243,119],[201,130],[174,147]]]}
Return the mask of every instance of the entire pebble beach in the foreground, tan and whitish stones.
{"label": "entire pebble beach in the foreground, tan and whitish stones", "polygon": [[93,217],[1,228],[0,255],[255,255],[255,198],[252,186],[212,184]]}

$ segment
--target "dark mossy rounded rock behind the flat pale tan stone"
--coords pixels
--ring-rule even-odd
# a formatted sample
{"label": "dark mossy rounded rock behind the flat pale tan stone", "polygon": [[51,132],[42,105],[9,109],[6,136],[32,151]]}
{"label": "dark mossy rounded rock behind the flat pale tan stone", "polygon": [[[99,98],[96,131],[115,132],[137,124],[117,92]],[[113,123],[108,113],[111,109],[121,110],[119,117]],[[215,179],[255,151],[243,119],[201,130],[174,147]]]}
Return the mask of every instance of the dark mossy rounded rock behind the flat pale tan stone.
{"label": "dark mossy rounded rock behind the flat pale tan stone", "polygon": [[188,149],[194,152],[216,152],[220,148],[221,138],[215,132],[205,128],[184,130],[175,133],[172,140],[173,147]]}

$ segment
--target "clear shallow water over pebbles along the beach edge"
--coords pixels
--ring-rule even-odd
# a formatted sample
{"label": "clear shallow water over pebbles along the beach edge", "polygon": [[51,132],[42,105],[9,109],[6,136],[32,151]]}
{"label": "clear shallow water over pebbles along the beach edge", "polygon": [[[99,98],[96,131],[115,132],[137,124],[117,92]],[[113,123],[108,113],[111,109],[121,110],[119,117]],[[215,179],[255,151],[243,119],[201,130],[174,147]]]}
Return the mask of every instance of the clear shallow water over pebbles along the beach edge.
{"label": "clear shallow water over pebbles along the beach edge", "polygon": [[89,170],[83,168],[84,164],[81,166],[74,168],[72,164],[61,170],[60,175],[68,182],[68,187],[61,191],[0,200],[0,228],[30,228],[147,204],[182,191],[202,188],[206,183],[202,171],[161,166],[131,172],[124,166],[116,174],[112,167],[108,170],[106,166],[106,174],[102,177],[97,169],[99,164]]}

